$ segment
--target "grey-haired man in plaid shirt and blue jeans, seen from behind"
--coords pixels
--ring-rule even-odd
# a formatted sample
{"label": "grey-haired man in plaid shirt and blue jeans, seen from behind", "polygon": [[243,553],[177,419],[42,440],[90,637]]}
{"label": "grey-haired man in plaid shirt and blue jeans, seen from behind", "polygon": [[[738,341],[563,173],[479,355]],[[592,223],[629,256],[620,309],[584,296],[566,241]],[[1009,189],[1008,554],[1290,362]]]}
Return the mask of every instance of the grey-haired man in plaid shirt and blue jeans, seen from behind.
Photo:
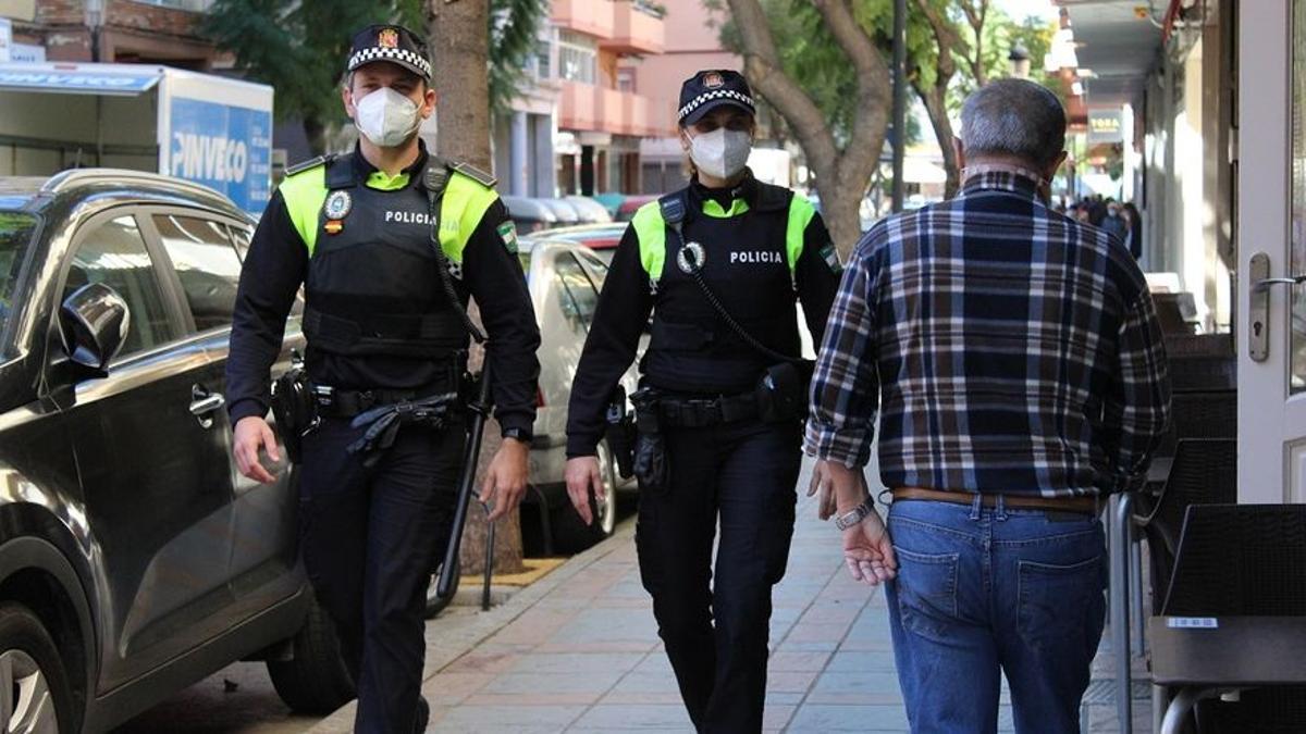
{"label": "grey-haired man in plaid shirt and blue jeans, seen from behind", "polygon": [[[1057,214],[1066,115],[1046,89],[966,101],[960,196],[858,244],[812,379],[812,491],[854,577],[887,581],[914,731],[1077,731],[1105,619],[1106,494],[1169,414],[1161,330],[1117,238]],[[862,466],[880,419],[888,529]],[[892,542],[889,537],[892,535]]]}

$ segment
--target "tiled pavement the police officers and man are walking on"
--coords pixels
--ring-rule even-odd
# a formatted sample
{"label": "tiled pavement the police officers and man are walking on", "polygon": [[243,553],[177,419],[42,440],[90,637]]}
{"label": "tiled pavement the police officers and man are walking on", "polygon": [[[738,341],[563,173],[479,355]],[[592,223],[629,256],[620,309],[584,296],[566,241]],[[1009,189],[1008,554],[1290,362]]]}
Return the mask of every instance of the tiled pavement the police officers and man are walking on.
{"label": "tiled pavement the police officers and man are walking on", "polygon": [[[848,577],[806,496],[798,517],[774,590],[765,729],[905,731],[883,593]],[[445,622],[427,628],[431,731],[692,731],[640,586],[632,521],[503,607]],[[1092,731],[1117,730],[1110,699],[1089,713]],[[1149,730],[1147,701],[1135,717]],[[350,718],[342,709],[313,731]]]}

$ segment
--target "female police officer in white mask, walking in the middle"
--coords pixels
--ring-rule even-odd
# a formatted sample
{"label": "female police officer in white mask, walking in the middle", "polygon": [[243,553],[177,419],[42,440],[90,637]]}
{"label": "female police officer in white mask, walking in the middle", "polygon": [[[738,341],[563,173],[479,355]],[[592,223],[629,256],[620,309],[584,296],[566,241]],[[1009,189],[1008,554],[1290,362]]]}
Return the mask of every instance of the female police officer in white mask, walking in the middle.
{"label": "female police officer in white mask, walking in the middle", "polygon": [[605,407],[652,311],[637,413],[640,440],[656,428],[652,445],[663,451],[640,462],[666,473],[637,470],[640,575],[695,726],[757,731],[771,586],[789,556],[807,401],[790,362],[794,296],[820,343],[838,260],[806,199],[744,167],[756,123],[741,74],[686,81],[679,124],[693,176],[640,209],[618,246],[572,385],[567,490],[590,522]]}

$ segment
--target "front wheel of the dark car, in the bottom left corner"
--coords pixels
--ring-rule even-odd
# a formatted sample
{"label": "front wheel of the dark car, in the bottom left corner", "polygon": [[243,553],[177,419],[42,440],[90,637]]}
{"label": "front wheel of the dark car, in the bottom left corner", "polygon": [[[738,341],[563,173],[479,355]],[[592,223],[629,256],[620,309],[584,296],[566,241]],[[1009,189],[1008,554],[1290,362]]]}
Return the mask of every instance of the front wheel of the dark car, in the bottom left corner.
{"label": "front wheel of the dark car, in the bottom left corner", "polygon": [[8,694],[0,696],[0,730],[77,731],[59,648],[37,615],[17,603],[0,605],[0,691]]}

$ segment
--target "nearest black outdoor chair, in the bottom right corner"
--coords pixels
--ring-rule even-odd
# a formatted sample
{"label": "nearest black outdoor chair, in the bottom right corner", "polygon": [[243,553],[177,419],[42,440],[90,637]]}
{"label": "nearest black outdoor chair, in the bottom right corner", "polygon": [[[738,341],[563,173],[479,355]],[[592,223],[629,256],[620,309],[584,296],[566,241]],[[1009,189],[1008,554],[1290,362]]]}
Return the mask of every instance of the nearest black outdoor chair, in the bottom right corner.
{"label": "nearest black outdoor chair, in the bottom right corner", "polygon": [[1306,505],[1190,505],[1148,635],[1162,733],[1306,731]]}

